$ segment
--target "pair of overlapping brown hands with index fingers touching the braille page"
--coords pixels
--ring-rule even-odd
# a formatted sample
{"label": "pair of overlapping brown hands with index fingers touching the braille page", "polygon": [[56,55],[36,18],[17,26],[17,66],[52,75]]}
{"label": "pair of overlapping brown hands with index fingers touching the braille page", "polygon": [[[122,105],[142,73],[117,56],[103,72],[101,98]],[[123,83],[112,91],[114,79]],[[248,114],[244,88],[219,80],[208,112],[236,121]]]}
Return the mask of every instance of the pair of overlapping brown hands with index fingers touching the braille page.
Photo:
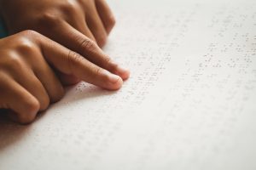
{"label": "pair of overlapping brown hands with index fingers touching the braille page", "polygon": [[104,54],[114,25],[104,0],[0,0],[12,36],[0,39],[0,109],[20,123],[60,100],[81,80],[109,90],[129,71]]}

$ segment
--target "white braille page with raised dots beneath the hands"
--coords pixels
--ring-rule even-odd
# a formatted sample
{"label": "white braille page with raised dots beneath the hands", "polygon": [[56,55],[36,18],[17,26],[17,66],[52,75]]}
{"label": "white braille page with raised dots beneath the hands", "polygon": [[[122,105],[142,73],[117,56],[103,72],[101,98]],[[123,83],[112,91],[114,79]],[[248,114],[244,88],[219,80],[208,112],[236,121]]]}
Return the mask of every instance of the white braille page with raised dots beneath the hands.
{"label": "white braille page with raised dots beneath the hands", "polygon": [[131,78],[1,121],[0,169],[256,169],[256,3],[177,2],[109,1],[104,51]]}

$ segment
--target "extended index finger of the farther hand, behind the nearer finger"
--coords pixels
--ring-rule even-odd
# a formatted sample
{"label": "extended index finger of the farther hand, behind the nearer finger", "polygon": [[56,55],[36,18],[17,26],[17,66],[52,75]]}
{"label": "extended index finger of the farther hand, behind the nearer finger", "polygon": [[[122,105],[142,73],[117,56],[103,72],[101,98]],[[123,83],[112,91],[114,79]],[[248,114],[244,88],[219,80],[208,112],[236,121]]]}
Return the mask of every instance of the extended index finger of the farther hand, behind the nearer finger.
{"label": "extended index finger of the farther hand, behind the nearer finger", "polygon": [[113,62],[113,60],[110,59],[107,54],[104,54],[102,49],[96,45],[96,42],[91,41],[67,22],[61,22],[57,28],[61,31],[57,31],[55,34],[49,36],[56,42],[83,55],[95,65],[99,65],[113,74],[122,77],[123,80],[130,76],[130,71]]}

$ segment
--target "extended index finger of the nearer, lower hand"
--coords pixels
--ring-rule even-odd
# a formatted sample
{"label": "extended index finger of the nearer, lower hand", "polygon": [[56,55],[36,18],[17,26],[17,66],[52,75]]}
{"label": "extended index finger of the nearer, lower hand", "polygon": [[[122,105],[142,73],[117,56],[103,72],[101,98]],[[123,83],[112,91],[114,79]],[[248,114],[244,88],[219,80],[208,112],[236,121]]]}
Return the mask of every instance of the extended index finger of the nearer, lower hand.
{"label": "extended index finger of the nearer, lower hand", "polygon": [[121,88],[122,78],[91,63],[80,54],[67,49],[57,42],[43,37],[41,48],[44,58],[55,69],[67,75],[73,75],[101,88],[116,90]]}

